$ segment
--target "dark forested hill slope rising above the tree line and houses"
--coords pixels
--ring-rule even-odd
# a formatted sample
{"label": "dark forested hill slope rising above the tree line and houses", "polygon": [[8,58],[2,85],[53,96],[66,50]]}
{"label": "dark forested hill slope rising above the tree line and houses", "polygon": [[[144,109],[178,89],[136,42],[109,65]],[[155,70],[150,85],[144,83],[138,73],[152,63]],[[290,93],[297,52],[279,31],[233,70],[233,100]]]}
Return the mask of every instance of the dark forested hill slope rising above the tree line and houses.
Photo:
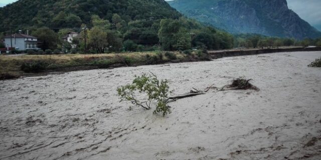
{"label": "dark forested hill slope rising above the tree line and houses", "polygon": [[[18,0],[0,7],[0,32],[26,26],[55,28],[90,25],[93,14],[112,20],[114,13],[126,22],[181,16],[165,0]],[[61,20],[65,18],[65,21]]]}

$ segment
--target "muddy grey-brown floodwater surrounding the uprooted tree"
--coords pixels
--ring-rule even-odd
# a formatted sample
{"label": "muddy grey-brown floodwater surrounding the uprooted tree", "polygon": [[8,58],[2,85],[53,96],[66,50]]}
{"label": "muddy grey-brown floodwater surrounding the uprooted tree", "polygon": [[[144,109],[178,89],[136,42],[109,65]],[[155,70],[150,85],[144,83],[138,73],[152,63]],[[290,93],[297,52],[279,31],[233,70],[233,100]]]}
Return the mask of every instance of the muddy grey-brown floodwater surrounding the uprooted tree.
{"label": "muddy grey-brown floodwater surrounding the uprooted tree", "polygon": [[[321,159],[315,52],[73,71],[0,81],[0,159]],[[173,95],[252,78],[260,91],[180,99],[163,117],[119,102],[116,88],[152,71]]]}

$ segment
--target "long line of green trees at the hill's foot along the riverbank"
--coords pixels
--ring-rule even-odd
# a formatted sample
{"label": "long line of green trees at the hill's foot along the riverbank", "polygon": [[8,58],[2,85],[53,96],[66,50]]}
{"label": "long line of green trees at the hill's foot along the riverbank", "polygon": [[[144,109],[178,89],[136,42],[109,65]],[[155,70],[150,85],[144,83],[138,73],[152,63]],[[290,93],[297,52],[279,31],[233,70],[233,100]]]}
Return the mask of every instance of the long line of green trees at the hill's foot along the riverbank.
{"label": "long line of green trees at the hill's foot along the riverbank", "polygon": [[[68,17],[64,13],[59,14],[56,17]],[[60,23],[59,18],[53,20]],[[79,28],[29,27],[29,30],[31,35],[41,41],[39,47],[42,50],[60,50],[59,52],[64,53],[321,46],[320,38],[295,40],[250,33],[232,35],[185,17],[126,22],[117,13],[112,15],[111,21],[96,14],[92,15],[90,27],[81,24]],[[74,37],[72,43],[69,43],[62,39],[68,32],[79,32],[79,36]],[[4,33],[0,36],[4,36]],[[0,47],[4,47],[4,44],[0,44]]]}

